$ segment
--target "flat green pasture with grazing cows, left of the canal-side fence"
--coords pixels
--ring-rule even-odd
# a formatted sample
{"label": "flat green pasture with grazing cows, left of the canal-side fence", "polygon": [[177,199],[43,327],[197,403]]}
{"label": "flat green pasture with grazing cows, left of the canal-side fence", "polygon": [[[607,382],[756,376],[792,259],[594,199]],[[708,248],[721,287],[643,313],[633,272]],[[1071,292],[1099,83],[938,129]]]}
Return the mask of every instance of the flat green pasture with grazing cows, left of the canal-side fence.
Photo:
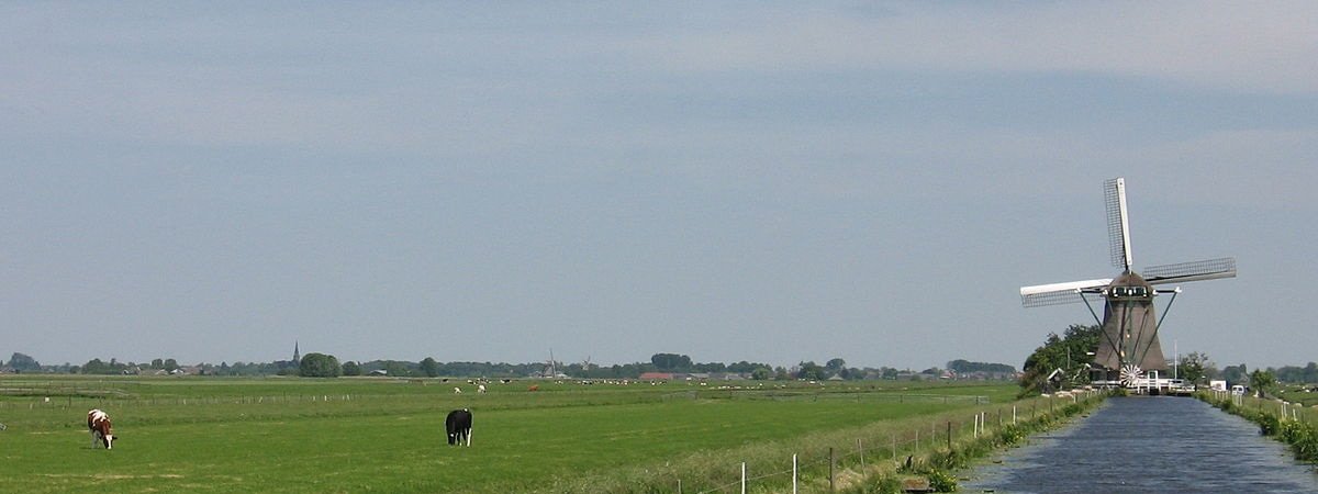
{"label": "flat green pasture with grazing cows, left of the canal-side fence", "polygon": [[[854,443],[847,431],[896,437],[875,424],[942,420],[1015,393],[1011,385],[550,382],[530,393],[529,383],[494,382],[478,395],[439,379],[7,375],[0,491],[616,490],[609,482],[627,490],[659,470],[680,478],[716,462],[731,469],[754,448],[778,454]],[[90,444],[84,416],[94,407],[115,422],[121,439],[112,451]],[[474,414],[472,448],[444,440],[444,414],[460,407]],[[691,472],[687,485],[709,476]]]}

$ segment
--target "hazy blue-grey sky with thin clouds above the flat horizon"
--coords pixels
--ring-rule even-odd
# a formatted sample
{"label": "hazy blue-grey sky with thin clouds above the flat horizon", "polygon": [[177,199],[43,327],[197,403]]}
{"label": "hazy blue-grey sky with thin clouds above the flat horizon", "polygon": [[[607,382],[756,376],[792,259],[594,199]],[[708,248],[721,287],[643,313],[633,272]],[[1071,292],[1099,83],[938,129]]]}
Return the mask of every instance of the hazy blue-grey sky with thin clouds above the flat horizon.
{"label": "hazy blue-grey sky with thin clouds above the flat horizon", "polygon": [[[1019,287],[1234,256],[1318,360],[1318,4],[4,3],[0,358],[1020,366]],[[1166,300],[1160,298],[1159,310]]]}

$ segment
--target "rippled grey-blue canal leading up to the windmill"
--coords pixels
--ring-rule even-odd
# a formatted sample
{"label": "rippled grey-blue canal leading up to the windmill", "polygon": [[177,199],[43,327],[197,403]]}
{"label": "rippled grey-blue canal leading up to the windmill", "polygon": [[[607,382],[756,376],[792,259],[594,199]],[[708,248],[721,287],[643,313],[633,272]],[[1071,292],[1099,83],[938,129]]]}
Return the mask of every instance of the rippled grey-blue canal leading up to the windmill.
{"label": "rippled grey-blue canal leading up to the windmill", "polygon": [[1318,493],[1318,472],[1194,398],[1111,398],[975,469],[965,493]]}

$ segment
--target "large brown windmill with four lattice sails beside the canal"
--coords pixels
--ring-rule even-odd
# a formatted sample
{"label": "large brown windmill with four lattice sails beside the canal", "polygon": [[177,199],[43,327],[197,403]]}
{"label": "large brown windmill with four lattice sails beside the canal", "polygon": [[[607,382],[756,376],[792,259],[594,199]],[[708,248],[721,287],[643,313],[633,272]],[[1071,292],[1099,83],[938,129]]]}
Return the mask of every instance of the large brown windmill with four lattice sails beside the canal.
{"label": "large brown windmill with four lattice sails beside the canal", "polygon": [[1166,357],[1159,344],[1157,331],[1162,319],[1156,317],[1153,298],[1172,295],[1162,311],[1176,302],[1180,287],[1170,290],[1155,286],[1217,278],[1235,278],[1235,258],[1180,262],[1145,267],[1143,275],[1131,270],[1131,234],[1126,212],[1126,179],[1114,178],[1103,183],[1107,202],[1107,233],[1112,265],[1122,267],[1116,278],[1086,279],[1068,283],[1037,285],[1020,288],[1020,302],[1025,307],[1054,306],[1085,302],[1098,320],[1094,302],[1103,302],[1102,336],[1094,361],[1104,370],[1108,383],[1119,378],[1122,386],[1132,387],[1147,370],[1165,370]]}

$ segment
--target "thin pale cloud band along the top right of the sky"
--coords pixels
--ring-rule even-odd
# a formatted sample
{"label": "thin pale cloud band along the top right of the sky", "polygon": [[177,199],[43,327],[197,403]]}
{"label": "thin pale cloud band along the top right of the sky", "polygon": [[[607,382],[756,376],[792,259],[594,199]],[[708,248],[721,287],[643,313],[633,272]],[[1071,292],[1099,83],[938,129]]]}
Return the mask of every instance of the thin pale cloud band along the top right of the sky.
{"label": "thin pale cloud band along the top right of the sky", "polygon": [[1318,90],[1313,3],[944,5],[883,16],[749,13],[733,29],[663,33],[635,50],[673,71],[1065,71],[1244,92]]}

